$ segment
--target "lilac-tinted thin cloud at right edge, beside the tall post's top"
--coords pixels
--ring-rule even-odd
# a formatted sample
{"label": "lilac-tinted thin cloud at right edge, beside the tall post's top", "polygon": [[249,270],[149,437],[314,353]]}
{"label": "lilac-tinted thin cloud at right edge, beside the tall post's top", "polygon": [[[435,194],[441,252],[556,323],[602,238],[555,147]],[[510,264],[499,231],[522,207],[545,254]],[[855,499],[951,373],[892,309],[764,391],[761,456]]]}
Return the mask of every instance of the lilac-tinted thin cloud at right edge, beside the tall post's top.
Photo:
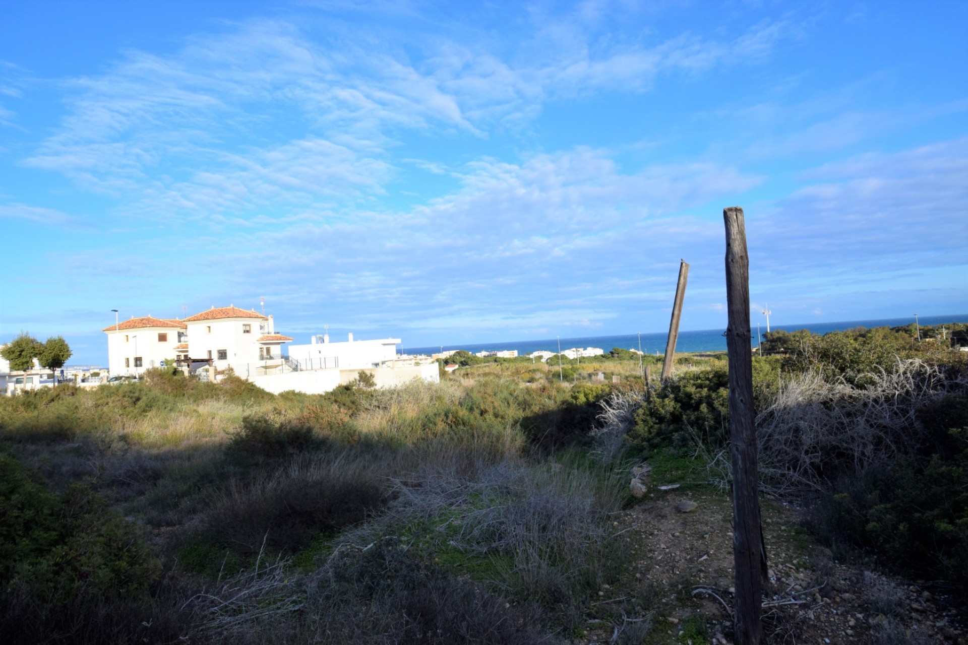
{"label": "lilac-tinted thin cloud at right edge, beside the tall post's top", "polygon": [[765,271],[830,280],[968,265],[968,138],[860,155],[802,177],[811,183],[751,227]]}

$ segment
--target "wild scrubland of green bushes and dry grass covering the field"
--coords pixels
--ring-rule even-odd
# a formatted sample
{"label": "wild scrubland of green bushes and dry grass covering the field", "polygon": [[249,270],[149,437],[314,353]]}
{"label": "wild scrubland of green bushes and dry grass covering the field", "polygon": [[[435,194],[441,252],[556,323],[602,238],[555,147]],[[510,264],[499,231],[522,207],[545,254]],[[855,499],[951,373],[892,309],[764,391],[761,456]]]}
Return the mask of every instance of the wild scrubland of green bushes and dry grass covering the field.
{"label": "wild scrubland of green bushes and dry grass covering the field", "polygon": [[[968,354],[906,329],[774,333],[764,350],[763,489],[835,558],[968,598]],[[656,586],[631,577],[615,521],[640,503],[630,468],[729,480],[728,366],[678,364],[648,390],[618,350],[324,396],[152,370],[0,399],[0,632],[541,643],[600,625],[651,642]]]}

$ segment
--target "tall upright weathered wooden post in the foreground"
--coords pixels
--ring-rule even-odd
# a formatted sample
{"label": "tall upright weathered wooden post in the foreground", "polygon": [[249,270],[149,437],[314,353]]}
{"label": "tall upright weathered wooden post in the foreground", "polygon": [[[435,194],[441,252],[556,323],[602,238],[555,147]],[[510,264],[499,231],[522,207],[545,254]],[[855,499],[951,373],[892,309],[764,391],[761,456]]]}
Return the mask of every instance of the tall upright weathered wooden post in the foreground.
{"label": "tall upright weathered wooden post in the foreground", "polygon": [[760,525],[756,416],[749,331],[749,256],[742,209],[723,209],[726,222],[726,303],[729,327],[729,430],[733,461],[733,559],[736,569],[736,645],[759,645],[767,554]]}

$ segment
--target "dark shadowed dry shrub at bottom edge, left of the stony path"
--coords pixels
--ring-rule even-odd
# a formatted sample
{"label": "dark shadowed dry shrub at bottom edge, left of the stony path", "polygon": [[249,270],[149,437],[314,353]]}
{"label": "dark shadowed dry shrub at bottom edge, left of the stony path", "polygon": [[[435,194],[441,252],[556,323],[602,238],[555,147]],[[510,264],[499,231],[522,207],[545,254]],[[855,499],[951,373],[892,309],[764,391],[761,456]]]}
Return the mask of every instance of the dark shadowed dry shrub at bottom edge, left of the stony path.
{"label": "dark shadowed dry shrub at bottom edge, left of the stony path", "polygon": [[195,599],[206,642],[532,645],[556,642],[529,606],[510,606],[384,538],[335,552],[310,576],[284,563]]}

